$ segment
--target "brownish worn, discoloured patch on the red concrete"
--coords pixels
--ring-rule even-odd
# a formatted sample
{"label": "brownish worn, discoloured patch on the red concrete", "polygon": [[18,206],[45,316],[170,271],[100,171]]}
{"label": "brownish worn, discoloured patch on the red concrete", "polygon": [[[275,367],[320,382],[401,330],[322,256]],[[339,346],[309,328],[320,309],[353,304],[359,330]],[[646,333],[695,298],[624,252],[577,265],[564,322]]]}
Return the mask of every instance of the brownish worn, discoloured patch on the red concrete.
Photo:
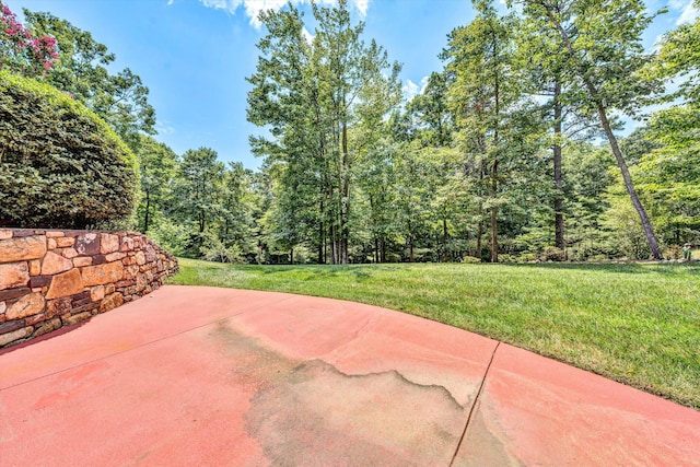
{"label": "brownish worn, discoloured patch on the red concrete", "polygon": [[254,392],[246,431],[273,465],[450,464],[468,408],[444,387],[289,359],[225,323],[212,337]]}

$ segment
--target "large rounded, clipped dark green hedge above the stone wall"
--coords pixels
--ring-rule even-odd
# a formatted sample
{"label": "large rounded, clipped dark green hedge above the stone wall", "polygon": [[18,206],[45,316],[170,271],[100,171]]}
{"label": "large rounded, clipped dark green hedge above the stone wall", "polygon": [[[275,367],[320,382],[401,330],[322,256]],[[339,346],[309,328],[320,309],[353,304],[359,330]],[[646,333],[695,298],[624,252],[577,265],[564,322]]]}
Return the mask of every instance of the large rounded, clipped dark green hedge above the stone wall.
{"label": "large rounded, clipped dark green hedge above the stone wall", "polygon": [[86,229],[127,219],[133,153],[55,87],[0,71],[0,226]]}

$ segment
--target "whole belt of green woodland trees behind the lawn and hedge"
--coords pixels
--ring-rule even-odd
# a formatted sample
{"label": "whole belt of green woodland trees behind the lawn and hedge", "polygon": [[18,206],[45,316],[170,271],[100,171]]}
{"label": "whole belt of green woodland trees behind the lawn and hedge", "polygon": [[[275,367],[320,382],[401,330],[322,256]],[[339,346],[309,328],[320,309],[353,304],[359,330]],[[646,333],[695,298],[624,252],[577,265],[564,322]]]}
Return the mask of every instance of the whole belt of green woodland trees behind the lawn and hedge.
{"label": "whole belt of green woodland trees behind the lawn and hedge", "polygon": [[[90,226],[136,229],[179,256],[661,259],[700,243],[700,22],[650,51],[641,35],[663,12],[639,1],[523,0],[505,15],[474,4],[410,101],[400,65],[345,1],[312,19],[291,4],[262,13],[248,77],[248,120],[267,133],[250,138],[255,172],[159,142],[140,78],[110,73],[106,46],[48,13],[20,25],[3,7],[0,69],[70,94],[136,154],[133,213]],[[19,47],[20,28],[36,46]]]}

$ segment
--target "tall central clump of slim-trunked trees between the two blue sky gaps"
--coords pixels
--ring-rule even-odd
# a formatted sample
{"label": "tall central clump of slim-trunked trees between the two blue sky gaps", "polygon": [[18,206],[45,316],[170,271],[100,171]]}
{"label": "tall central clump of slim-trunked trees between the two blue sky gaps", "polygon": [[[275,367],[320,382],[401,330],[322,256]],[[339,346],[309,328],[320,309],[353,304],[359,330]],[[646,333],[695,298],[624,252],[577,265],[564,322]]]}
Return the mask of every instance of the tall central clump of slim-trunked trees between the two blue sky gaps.
{"label": "tall central clump of slim-trunked trees between the two blue sky gaps", "polygon": [[252,140],[256,153],[296,165],[292,173],[314,171],[319,229],[331,262],[346,264],[355,163],[398,101],[399,67],[382,47],[361,39],[364,24],[352,24],[346,0],[312,7],[312,40],[293,5],[260,14],[268,34],[258,43],[261,56],[248,79],[248,119],[269,126],[272,136]]}

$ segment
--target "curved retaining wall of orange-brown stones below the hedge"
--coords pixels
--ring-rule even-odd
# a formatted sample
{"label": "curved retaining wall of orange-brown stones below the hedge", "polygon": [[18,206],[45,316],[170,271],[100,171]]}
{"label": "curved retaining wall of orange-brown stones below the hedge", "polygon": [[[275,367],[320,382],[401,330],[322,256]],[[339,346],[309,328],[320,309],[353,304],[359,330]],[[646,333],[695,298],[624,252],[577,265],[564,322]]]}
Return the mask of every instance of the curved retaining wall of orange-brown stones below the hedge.
{"label": "curved retaining wall of orange-brown stones below the hedge", "polygon": [[0,229],[0,348],[139,299],[177,269],[138,232]]}

